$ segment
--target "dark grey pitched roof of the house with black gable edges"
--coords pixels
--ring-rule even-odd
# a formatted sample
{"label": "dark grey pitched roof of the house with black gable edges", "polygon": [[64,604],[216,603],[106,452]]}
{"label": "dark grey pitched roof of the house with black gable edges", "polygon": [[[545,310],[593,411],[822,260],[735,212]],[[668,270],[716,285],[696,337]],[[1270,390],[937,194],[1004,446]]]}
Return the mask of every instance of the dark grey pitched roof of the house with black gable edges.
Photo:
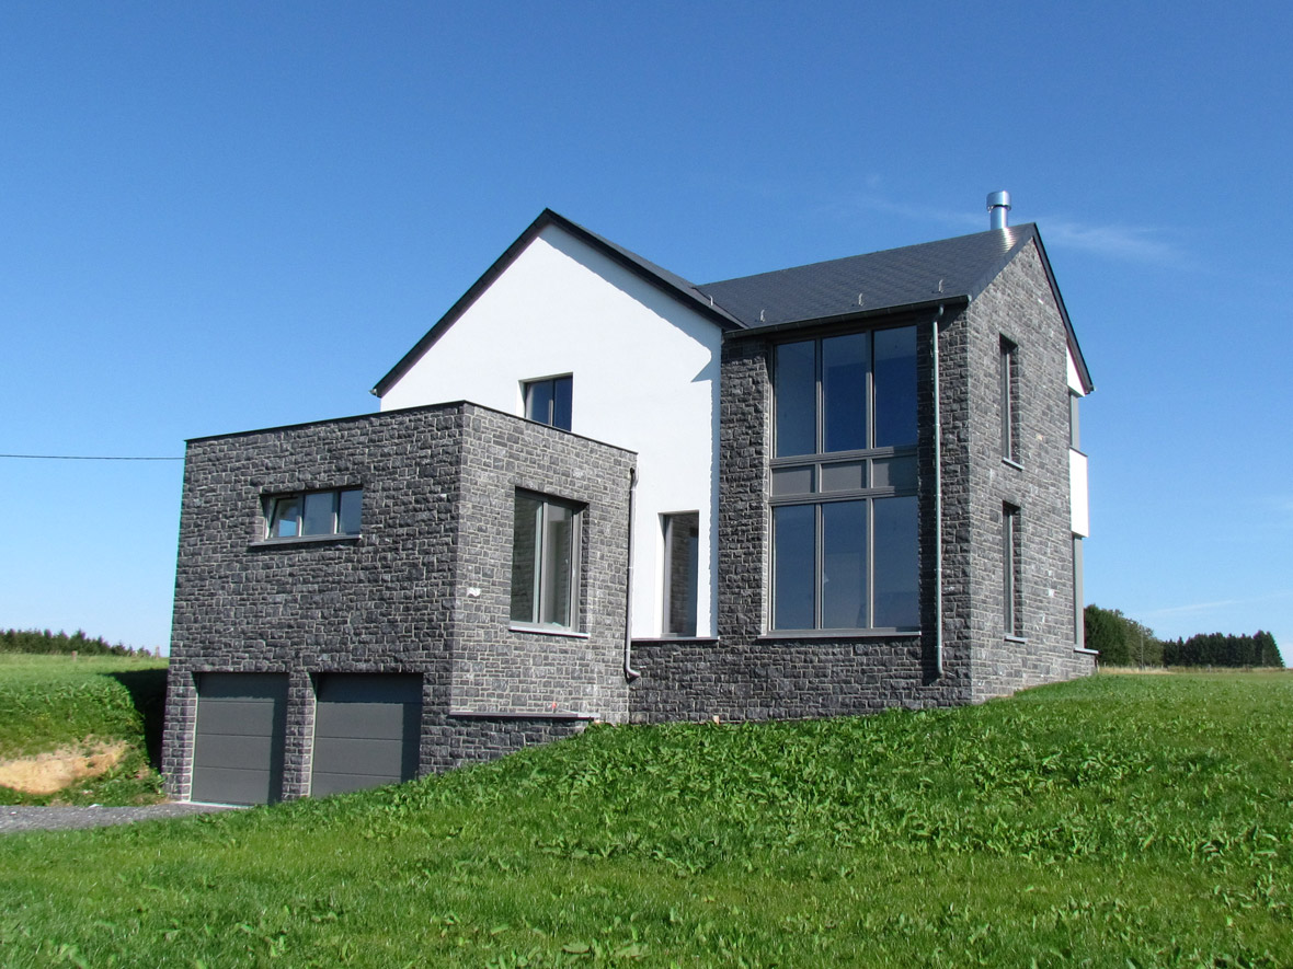
{"label": "dark grey pitched roof of the house with black gable edges", "polygon": [[1068,311],[1064,309],[1064,300],[1051,273],[1050,260],[1046,258],[1041,235],[1033,224],[697,286],[552,209],[543,209],[436,326],[378,381],[372,393],[380,397],[400,380],[550,225],[559,226],[591,245],[634,275],[697,310],[724,331],[784,327],[900,309],[918,310],[946,302],[968,302],[997,278],[1029,240],[1036,240],[1055,305],[1064,319],[1069,349],[1078,373],[1086,390],[1094,389]]}

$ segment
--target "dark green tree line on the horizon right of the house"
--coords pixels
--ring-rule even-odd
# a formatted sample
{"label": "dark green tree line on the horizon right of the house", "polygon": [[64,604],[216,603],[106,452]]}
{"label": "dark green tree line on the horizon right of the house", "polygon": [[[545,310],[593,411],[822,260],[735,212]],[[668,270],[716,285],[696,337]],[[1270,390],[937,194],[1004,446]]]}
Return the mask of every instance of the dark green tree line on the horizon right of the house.
{"label": "dark green tree line on the horizon right of the house", "polygon": [[1188,640],[1160,640],[1153,630],[1118,609],[1091,605],[1082,610],[1086,649],[1108,667],[1274,667],[1284,668],[1275,637],[1199,633]]}

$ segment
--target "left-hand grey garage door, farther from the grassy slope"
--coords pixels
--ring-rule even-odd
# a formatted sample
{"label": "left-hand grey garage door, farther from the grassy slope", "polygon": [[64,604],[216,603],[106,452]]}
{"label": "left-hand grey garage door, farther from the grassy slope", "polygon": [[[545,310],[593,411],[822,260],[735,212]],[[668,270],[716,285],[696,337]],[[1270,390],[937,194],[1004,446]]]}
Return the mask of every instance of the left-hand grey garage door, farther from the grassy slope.
{"label": "left-hand grey garage door, farther from the grassy slope", "polygon": [[215,804],[279,800],[286,714],[282,673],[200,673],[190,797]]}

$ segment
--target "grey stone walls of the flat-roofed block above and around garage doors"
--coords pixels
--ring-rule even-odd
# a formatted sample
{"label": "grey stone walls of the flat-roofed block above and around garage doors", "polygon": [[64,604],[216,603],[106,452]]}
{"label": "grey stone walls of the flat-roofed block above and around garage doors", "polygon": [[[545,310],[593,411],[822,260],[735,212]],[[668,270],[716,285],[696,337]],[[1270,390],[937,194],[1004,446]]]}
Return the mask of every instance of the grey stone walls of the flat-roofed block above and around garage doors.
{"label": "grey stone walls of the flat-roofed block above and around garage doors", "polygon": [[[186,798],[198,678],[290,676],[283,797],[321,673],[423,677],[419,773],[627,718],[621,448],[459,402],[200,438],[185,464],[163,770]],[[357,536],[265,540],[268,496],[361,488]],[[579,509],[569,630],[511,623],[517,490]]]}

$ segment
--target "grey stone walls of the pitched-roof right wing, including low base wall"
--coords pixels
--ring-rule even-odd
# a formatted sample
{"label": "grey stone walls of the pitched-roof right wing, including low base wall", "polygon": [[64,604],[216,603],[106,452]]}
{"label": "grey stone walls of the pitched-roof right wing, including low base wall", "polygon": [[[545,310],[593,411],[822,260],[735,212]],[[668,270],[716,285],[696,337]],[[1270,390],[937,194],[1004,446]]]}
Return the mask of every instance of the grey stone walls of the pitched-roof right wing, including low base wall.
{"label": "grey stone walls of the pitched-roof right wing, including low base wall", "polygon": [[[1091,658],[1076,652],[1073,642],[1067,336],[1036,245],[1025,247],[971,304],[884,320],[897,323],[917,326],[921,630],[798,637],[767,632],[772,339],[732,333],[721,364],[719,636],[635,642],[632,663],[641,678],[630,693],[634,721],[952,705],[1091,672]],[[857,323],[866,326],[874,324]],[[934,486],[935,327],[940,496]],[[796,329],[786,339],[811,332]],[[1002,337],[1018,348],[1014,463],[1001,453]],[[1006,503],[1020,509],[1018,637],[1003,629]]]}

